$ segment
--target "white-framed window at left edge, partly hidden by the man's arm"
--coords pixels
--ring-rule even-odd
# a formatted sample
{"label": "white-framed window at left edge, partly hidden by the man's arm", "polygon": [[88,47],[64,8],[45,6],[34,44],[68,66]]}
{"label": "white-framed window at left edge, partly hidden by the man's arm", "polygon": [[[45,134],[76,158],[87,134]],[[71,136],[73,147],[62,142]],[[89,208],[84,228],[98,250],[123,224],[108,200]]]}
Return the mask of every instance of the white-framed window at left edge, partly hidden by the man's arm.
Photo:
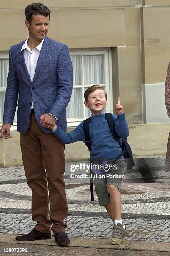
{"label": "white-framed window at left edge, partly hidden by the man's arm", "polygon": [[[4,108],[4,100],[5,100],[5,91],[7,86],[7,75],[9,68],[9,55],[8,54],[0,54],[0,126],[3,122],[3,108]],[[15,114],[14,117],[14,125],[11,127],[11,130],[17,130],[17,117]]]}

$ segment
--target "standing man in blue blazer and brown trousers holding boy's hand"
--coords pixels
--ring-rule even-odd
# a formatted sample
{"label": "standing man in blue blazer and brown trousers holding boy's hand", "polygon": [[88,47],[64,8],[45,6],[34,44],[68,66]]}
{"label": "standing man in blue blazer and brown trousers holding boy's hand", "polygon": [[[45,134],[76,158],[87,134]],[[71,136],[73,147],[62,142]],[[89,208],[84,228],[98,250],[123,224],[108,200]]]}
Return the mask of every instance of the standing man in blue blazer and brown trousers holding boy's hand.
{"label": "standing man in blue blazer and brown trousers holding boy's hand", "polygon": [[[18,101],[20,145],[25,175],[32,189],[32,220],[37,224],[29,234],[16,239],[50,239],[53,224],[55,241],[59,246],[67,246],[70,240],[63,222],[67,217],[64,144],[50,128],[57,122],[63,131],[67,130],[65,108],[72,92],[72,63],[68,47],[47,37],[50,10],[33,3],[25,8],[25,16],[29,37],[10,47],[1,137],[10,137]],[[43,114],[44,127],[40,124]]]}

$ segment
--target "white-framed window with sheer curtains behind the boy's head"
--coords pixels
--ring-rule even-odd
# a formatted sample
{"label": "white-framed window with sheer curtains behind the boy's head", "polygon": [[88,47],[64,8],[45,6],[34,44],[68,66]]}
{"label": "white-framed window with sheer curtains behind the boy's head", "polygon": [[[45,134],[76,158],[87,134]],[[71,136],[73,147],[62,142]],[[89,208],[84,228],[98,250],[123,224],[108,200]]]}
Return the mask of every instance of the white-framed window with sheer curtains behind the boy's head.
{"label": "white-framed window with sheer curtains behind the boy's head", "polygon": [[[84,92],[93,85],[100,84],[111,95],[109,79],[109,51],[70,51],[73,68],[73,89],[71,100],[66,108],[67,125],[77,126],[90,116],[90,110],[84,105]],[[108,100],[107,111],[110,111]]]}

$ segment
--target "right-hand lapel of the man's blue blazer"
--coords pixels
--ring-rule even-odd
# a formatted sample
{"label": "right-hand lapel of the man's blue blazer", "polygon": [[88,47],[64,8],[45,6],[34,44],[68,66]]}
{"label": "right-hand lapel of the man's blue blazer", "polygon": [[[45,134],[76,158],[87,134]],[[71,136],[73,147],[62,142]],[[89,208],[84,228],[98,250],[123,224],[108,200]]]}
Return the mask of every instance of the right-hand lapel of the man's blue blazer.
{"label": "right-hand lapel of the man's blue blazer", "polygon": [[46,56],[47,56],[47,54],[50,50],[50,47],[49,47],[50,44],[51,44],[50,38],[45,37],[44,42],[42,44],[41,51],[40,51],[40,56],[39,56],[38,61],[37,61],[37,67],[35,69],[33,82],[35,81],[35,79],[37,77],[37,74],[40,71],[40,68],[41,68],[43,62],[45,61],[45,58],[46,58]]}

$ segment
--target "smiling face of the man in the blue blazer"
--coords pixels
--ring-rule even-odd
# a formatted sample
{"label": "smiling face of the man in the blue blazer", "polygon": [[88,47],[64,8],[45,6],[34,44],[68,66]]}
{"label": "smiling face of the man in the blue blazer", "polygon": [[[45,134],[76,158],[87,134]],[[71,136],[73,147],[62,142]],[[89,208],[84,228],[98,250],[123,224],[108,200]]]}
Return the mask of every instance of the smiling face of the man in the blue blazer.
{"label": "smiling face of the man in the blue blazer", "polygon": [[28,20],[25,20],[29,36],[36,41],[42,41],[42,39],[47,36],[49,21],[49,16],[45,17],[40,14],[33,14],[31,23],[29,23]]}

